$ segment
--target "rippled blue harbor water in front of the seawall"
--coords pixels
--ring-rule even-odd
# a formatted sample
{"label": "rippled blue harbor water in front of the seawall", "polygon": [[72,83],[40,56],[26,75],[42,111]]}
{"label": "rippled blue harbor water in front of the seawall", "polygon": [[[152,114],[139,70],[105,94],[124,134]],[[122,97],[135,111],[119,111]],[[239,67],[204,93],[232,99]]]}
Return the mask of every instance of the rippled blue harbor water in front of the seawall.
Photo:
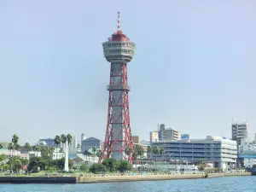
{"label": "rippled blue harbor water in front of the seawall", "polygon": [[255,192],[256,177],[213,177],[203,179],[93,184],[0,184],[0,192]]}

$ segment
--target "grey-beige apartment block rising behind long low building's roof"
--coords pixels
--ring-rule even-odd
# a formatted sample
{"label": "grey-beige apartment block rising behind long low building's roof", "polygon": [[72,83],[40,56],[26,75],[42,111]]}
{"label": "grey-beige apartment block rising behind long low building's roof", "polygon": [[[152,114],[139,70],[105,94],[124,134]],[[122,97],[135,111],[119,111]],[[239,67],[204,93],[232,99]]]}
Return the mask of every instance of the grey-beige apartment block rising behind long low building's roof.
{"label": "grey-beige apartment block rising behind long low building's roof", "polygon": [[158,131],[158,139],[159,141],[178,140],[178,131],[173,130],[172,128],[166,128],[166,125],[161,124],[160,129]]}

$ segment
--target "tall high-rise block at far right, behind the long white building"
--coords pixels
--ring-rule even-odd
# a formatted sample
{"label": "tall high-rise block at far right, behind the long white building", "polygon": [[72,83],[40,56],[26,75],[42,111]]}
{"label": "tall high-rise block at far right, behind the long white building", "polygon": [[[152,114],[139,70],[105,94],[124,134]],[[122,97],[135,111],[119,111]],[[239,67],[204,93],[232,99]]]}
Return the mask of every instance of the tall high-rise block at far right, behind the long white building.
{"label": "tall high-rise block at far right, behind the long white building", "polygon": [[241,145],[242,142],[246,142],[248,133],[247,133],[247,123],[233,123],[231,125],[232,131],[232,140],[236,141],[237,145]]}

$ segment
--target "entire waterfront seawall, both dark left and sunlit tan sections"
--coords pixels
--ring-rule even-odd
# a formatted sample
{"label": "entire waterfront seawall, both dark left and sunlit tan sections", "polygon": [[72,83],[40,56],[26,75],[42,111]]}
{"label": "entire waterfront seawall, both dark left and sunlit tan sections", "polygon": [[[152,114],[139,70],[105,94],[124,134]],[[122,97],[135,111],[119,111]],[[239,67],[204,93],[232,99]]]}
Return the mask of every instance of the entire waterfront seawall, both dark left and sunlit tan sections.
{"label": "entire waterfront seawall, both dark left and sunlit tan sections", "polygon": [[149,174],[149,175],[80,175],[77,177],[0,177],[0,183],[116,183],[137,181],[161,181],[200,179],[213,177],[251,176],[251,172],[197,173],[197,174]]}

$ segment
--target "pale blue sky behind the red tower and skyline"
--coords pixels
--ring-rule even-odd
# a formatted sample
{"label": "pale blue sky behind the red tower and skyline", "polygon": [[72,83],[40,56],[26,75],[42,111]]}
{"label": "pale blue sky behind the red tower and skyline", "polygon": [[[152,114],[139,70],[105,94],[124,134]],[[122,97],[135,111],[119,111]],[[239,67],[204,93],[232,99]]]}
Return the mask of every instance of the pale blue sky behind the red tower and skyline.
{"label": "pale blue sky behind the red tower and skyline", "polygon": [[0,140],[61,133],[103,139],[109,63],[102,42],[121,27],[131,129],[158,123],[191,137],[230,137],[232,117],[256,132],[255,1],[0,2]]}

